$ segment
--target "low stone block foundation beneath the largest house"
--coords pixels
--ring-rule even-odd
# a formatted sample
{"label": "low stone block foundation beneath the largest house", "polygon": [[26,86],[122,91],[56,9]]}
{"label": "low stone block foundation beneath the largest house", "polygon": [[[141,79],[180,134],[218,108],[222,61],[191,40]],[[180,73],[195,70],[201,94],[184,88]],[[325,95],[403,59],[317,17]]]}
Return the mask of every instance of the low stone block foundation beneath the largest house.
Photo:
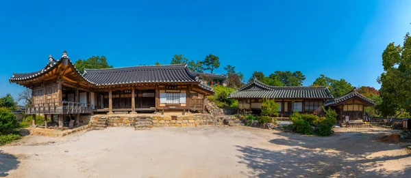
{"label": "low stone block foundation beneath the largest house", "polygon": [[238,126],[240,120],[235,116],[213,115],[93,115],[90,125],[97,125],[99,119],[107,119],[109,127],[135,127],[137,121],[147,119],[153,127],[186,127],[203,125],[229,125]]}

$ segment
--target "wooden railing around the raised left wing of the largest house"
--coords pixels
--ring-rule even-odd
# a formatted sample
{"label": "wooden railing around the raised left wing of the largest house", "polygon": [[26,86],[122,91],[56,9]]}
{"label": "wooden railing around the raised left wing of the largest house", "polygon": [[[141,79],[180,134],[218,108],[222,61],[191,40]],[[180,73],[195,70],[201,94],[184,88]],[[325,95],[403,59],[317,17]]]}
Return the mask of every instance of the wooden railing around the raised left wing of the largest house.
{"label": "wooden railing around the raised left wing of the largest house", "polygon": [[49,102],[41,104],[29,104],[26,108],[27,115],[66,115],[77,113],[91,113],[91,111],[92,104],[85,104],[79,102]]}

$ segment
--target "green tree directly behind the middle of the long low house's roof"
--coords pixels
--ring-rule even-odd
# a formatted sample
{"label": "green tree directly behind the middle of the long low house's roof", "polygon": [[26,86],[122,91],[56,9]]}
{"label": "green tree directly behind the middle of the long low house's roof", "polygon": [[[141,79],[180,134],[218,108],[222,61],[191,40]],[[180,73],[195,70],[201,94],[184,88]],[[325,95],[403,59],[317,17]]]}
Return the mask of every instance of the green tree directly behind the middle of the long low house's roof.
{"label": "green tree directly behind the middle of the long low house's roof", "polygon": [[284,86],[303,86],[304,80],[306,80],[306,76],[303,75],[301,71],[275,71],[274,74],[269,76],[270,78],[277,78],[282,82]]}

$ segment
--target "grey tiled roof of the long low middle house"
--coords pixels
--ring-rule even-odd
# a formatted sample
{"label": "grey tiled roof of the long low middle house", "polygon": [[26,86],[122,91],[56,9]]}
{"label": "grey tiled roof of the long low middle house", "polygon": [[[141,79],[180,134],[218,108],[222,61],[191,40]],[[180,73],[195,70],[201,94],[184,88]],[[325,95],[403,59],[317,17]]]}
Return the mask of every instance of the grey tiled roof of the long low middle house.
{"label": "grey tiled roof of the long low middle house", "polygon": [[327,87],[275,87],[253,80],[229,94],[229,98],[270,98],[270,99],[332,99]]}

